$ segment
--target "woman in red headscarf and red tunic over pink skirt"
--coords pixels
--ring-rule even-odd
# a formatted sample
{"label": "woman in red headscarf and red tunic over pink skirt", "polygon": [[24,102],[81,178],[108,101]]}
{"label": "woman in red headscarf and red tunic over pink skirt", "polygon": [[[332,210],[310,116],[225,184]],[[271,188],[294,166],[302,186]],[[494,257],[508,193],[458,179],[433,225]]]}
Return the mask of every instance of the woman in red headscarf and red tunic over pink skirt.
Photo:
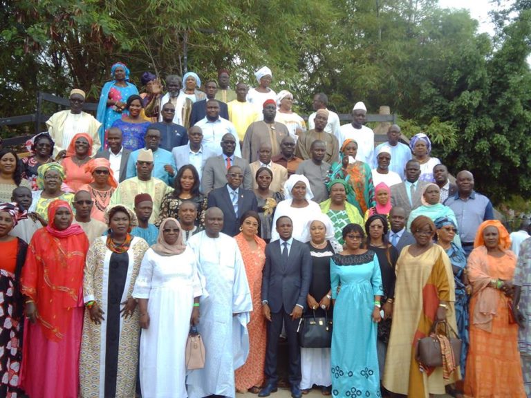
{"label": "woman in red headscarf and red tunic over pink skirt", "polygon": [[88,239],[64,200],[31,239],[22,269],[26,296],[21,388],[32,398],[75,398],[80,386],[83,269]]}

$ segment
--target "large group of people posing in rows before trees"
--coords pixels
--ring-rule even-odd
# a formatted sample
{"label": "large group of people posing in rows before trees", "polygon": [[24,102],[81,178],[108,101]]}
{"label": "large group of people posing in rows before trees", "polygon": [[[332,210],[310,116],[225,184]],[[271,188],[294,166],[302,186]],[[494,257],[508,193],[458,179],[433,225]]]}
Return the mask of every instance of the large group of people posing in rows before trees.
{"label": "large group of people posing in rows before trees", "polygon": [[[530,222],[510,236],[427,135],[375,146],[324,93],[307,124],[265,66],[235,90],[129,75],[0,149],[1,397],[531,396]],[[330,344],[301,348],[317,318]]]}

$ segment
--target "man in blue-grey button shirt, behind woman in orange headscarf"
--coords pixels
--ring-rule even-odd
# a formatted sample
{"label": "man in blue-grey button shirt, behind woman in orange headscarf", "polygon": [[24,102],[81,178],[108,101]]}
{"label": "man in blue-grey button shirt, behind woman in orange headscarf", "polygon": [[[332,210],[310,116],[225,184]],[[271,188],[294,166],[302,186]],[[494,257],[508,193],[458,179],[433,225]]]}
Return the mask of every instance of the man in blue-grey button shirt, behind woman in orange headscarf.
{"label": "man in blue-grey button shirt, behind woman in orange headscarf", "polygon": [[474,176],[463,170],[456,177],[457,193],[445,200],[445,205],[454,211],[461,245],[467,256],[474,249],[474,239],[479,225],[485,220],[494,220],[492,203],[487,196],[474,191]]}

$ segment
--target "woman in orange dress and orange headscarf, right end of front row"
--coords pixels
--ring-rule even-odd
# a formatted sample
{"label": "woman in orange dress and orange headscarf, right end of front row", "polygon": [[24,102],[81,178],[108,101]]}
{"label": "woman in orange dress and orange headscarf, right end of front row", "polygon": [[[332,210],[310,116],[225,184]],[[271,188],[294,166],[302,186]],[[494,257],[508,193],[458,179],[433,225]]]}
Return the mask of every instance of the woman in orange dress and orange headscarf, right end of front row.
{"label": "woman in orange dress and orange headscarf, right end of front row", "polygon": [[509,247],[501,222],[488,220],[479,226],[467,265],[472,299],[466,397],[525,397],[518,325],[510,318],[516,256]]}

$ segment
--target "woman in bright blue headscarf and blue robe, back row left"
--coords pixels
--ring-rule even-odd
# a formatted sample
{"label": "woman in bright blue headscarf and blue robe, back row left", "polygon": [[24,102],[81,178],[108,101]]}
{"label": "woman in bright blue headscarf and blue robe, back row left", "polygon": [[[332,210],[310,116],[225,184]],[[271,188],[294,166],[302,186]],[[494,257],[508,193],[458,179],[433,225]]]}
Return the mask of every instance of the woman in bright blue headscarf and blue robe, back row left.
{"label": "woman in bright blue headscarf and blue robe, back row left", "polygon": [[100,103],[97,104],[96,119],[102,124],[100,141],[106,145],[106,131],[113,125],[115,120],[123,114],[128,114],[126,103],[130,95],[138,94],[138,89],[129,83],[129,68],[117,62],[111,66],[111,82],[106,82],[100,95]]}

